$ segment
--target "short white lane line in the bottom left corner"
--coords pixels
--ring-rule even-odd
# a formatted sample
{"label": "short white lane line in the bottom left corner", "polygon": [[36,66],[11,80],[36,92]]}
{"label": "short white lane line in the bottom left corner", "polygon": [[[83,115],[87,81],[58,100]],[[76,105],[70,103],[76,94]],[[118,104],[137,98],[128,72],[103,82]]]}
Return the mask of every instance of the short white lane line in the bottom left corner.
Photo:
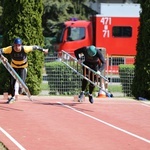
{"label": "short white lane line in the bottom left corner", "polygon": [[[22,147],[10,134],[8,134],[3,128],[0,127],[0,131],[7,136],[20,150],[26,150],[24,147]],[[4,143],[5,144],[5,143]]]}

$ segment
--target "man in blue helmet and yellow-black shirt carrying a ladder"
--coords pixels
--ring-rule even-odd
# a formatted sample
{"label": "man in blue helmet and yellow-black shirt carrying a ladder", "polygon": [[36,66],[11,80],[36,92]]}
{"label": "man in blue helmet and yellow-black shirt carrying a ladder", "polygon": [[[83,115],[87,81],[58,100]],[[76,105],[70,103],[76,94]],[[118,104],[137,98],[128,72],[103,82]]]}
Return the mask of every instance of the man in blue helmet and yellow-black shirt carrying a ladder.
{"label": "man in blue helmet and yellow-black shirt carrying a ladder", "polygon": [[[20,78],[25,82],[27,76],[27,53],[39,50],[44,54],[48,53],[48,49],[43,49],[40,46],[25,46],[22,45],[21,38],[15,38],[13,46],[8,46],[0,49],[0,57],[4,61],[7,61],[7,58],[1,56],[2,54],[9,54],[11,56],[11,66],[18,73]],[[16,80],[11,76],[10,79],[10,94],[11,97],[8,98],[7,103],[13,103],[15,101],[15,83]]]}

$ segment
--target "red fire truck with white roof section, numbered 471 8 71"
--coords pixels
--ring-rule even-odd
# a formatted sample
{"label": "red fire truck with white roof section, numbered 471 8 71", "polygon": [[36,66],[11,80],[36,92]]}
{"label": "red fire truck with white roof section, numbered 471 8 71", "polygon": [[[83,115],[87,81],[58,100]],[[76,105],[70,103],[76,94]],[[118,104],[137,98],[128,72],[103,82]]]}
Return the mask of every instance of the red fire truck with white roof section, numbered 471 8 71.
{"label": "red fire truck with white roof section, numbered 471 8 71", "polygon": [[73,55],[77,48],[95,45],[104,48],[109,57],[136,55],[140,5],[101,6],[104,6],[101,14],[91,16],[89,21],[73,18],[59,24],[55,43],[57,54],[64,50]]}

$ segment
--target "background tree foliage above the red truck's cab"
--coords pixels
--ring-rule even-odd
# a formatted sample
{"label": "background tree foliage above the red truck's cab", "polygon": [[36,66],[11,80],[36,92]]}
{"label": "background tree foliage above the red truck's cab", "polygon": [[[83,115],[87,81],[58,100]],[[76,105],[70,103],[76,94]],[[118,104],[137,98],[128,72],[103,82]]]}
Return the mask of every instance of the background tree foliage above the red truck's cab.
{"label": "background tree foliage above the red truck's cab", "polygon": [[87,20],[89,15],[96,14],[85,3],[94,0],[43,0],[43,27],[45,36],[54,36],[55,30],[49,28],[72,17]]}

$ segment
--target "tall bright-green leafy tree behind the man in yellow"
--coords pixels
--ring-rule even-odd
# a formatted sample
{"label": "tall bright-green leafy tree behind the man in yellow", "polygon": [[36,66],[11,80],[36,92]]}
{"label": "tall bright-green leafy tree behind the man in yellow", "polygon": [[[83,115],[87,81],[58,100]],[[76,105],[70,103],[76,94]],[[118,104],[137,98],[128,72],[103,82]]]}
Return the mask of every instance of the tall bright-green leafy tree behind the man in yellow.
{"label": "tall bright-green leafy tree behind the man in yellow", "polygon": [[[3,47],[11,45],[15,37],[20,37],[24,45],[43,46],[42,14],[42,0],[5,0],[2,15]],[[41,90],[43,54],[39,51],[29,53],[28,62],[26,83],[31,94],[36,95]]]}

